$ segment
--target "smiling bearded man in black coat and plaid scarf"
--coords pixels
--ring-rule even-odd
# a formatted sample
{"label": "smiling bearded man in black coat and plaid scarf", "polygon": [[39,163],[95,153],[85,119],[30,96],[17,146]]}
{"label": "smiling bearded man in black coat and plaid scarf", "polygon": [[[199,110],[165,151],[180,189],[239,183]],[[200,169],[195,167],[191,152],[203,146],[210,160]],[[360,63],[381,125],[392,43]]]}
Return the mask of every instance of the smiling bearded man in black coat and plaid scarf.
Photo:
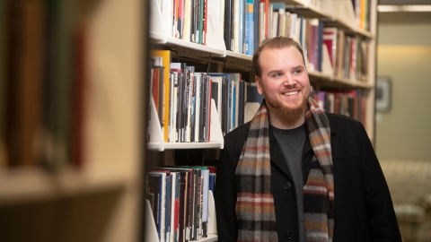
{"label": "smiling bearded man in black coat and plaid scarf", "polygon": [[224,136],[218,240],[401,241],[364,126],[310,98],[301,47],[266,39],[253,67],[265,99],[251,122]]}

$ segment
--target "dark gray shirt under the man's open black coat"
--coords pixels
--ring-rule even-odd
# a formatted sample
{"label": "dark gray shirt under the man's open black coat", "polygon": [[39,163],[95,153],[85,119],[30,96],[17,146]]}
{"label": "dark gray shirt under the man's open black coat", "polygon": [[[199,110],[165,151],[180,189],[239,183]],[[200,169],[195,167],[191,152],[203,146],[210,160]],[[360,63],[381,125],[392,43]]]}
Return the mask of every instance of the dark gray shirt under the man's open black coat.
{"label": "dark gray shirt under the man's open black coat", "polygon": [[287,167],[294,178],[296,202],[298,205],[299,241],[305,242],[303,229],[303,144],[306,139],[305,125],[294,129],[279,129],[271,125]]}

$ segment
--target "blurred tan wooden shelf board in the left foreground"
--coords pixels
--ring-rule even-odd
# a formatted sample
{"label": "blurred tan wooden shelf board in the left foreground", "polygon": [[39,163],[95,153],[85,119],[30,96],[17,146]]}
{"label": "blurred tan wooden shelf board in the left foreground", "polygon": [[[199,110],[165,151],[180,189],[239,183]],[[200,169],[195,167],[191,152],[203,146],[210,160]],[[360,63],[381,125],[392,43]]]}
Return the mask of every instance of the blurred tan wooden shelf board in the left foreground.
{"label": "blurred tan wooden shelf board in the left foreground", "polygon": [[118,169],[49,173],[37,167],[0,170],[0,205],[47,201],[57,197],[119,189],[128,182]]}

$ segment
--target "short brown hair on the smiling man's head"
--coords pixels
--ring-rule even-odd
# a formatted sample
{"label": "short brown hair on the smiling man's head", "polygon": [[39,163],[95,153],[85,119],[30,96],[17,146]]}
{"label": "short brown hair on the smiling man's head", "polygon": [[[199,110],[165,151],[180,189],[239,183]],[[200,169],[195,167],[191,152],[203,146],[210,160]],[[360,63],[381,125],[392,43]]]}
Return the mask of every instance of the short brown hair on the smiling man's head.
{"label": "short brown hair on the smiling man's head", "polygon": [[[257,48],[253,54],[253,68],[256,75],[260,78],[261,77],[260,75],[262,74],[260,70],[259,57],[260,57],[260,53],[264,48],[288,48],[288,47],[295,47],[296,49],[299,50],[299,52],[301,53],[301,56],[303,56],[303,48],[301,48],[299,43],[292,38],[277,36],[270,39],[264,39],[262,42],[260,42],[259,48]],[[303,65],[305,65],[304,57],[303,57]]]}

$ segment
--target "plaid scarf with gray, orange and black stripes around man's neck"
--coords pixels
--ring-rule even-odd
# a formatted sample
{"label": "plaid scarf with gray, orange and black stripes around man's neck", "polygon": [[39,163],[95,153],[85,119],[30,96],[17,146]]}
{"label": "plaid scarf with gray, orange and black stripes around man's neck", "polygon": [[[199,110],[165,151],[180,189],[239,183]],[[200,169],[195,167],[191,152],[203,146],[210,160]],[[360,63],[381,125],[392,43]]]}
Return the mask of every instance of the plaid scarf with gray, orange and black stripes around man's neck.
{"label": "plaid scarf with gray, orange and black stripes around man's neck", "polygon": [[[311,98],[305,112],[305,124],[314,151],[312,161],[319,163],[313,163],[303,186],[305,238],[307,241],[332,241],[335,210],[330,124],[323,110]],[[238,241],[277,241],[268,126],[268,108],[264,100],[251,120],[235,171],[240,178],[235,207]]]}

